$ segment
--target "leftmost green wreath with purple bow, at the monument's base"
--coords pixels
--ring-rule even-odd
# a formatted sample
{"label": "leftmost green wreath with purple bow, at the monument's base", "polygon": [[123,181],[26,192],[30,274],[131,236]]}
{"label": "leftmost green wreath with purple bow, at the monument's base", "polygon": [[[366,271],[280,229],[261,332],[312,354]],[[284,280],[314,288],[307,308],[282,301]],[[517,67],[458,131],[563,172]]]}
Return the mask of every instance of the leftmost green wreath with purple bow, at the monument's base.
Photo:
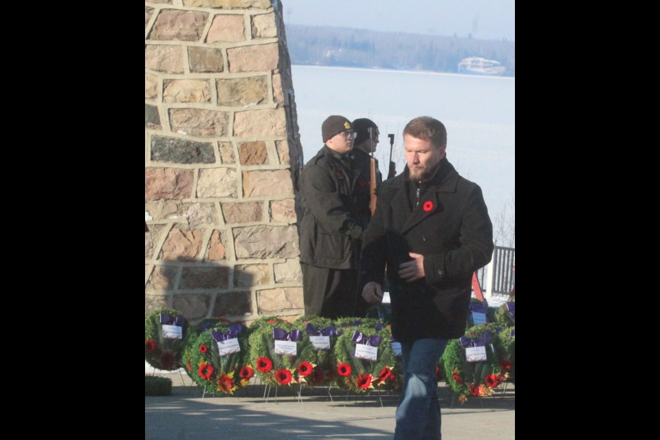
{"label": "leftmost green wreath with purple bow, at the monument's base", "polygon": [[[180,317],[181,339],[163,337],[163,327],[160,314],[167,314],[172,318]],[[149,314],[144,321],[144,359],[155,369],[174,371],[184,366],[184,349],[188,343],[188,320],[180,311],[173,309],[159,309]]]}

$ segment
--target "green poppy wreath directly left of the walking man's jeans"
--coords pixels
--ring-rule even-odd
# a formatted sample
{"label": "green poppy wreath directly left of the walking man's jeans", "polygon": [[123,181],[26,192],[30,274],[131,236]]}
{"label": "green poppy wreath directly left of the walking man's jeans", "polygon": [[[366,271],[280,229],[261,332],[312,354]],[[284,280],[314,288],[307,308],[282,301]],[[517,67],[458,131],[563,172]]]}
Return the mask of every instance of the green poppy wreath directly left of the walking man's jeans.
{"label": "green poppy wreath directly left of the walking man's jeans", "polygon": [[[376,325],[379,330],[376,329]],[[353,335],[357,331],[364,336],[380,336],[376,360],[355,358],[356,342],[353,342]],[[400,366],[397,373],[397,360],[392,349],[391,335],[390,327],[377,320],[375,324],[367,323],[342,329],[333,351],[333,360],[337,367],[336,386],[358,393],[376,387],[400,388],[403,377]],[[395,371],[394,375],[393,371]]]}

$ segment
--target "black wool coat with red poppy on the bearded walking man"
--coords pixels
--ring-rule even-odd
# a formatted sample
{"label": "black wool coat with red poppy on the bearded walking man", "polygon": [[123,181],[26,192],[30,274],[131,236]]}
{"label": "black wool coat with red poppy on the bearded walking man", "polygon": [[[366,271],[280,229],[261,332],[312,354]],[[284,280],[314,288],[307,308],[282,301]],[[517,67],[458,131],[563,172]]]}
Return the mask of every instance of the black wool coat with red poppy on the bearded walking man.
{"label": "black wool coat with red poppy on the bearded walking man", "polygon": [[[396,340],[459,338],[465,333],[472,274],[489,263],[494,249],[483,194],[446,158],[412,208],[407,179],[406,167],[378,191],[364,232],[360,282],[382,285],[387,267]],[[408,282],[397,275],[399,265],[411,260],[408,252],[424,256],[425,278]]]}

